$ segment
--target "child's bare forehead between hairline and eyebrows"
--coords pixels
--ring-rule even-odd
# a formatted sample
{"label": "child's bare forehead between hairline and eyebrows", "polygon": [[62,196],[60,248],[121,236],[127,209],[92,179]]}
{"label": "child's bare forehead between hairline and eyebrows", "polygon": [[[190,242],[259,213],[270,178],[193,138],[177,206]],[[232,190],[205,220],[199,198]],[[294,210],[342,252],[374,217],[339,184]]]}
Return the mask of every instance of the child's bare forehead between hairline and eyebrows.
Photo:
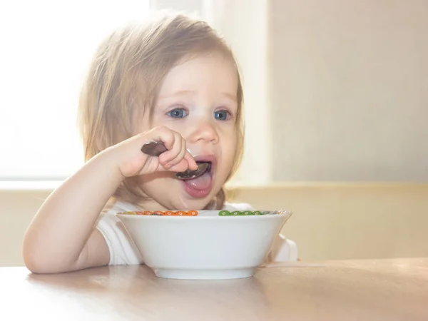
{"label": "child's bare forehead between hairline and eyebrows", "polygon": [[200,54],[186,57],[170,69],[163,79],[158,97],[199,92],[222,93],[236,99],[237,91],[238,71],[235,63],[223,54]]}

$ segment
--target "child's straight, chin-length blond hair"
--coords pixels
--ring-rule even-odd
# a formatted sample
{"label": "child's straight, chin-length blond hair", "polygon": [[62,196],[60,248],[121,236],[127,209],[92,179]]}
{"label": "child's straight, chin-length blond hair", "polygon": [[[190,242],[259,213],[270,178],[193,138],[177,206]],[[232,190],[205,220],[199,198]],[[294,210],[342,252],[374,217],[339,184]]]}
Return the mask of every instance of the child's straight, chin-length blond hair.
{"label": "child's straight, chin-length blond hair", "polygon": [[[79,102],[85,160],[133,135],[137,111],[144,106],[143,113],[151,115],[158,88],[173,66],[188,56],[210,52],[225,55],[236,66],[230,48],[208,24],[183,14],[163,13],[146,24],[128,24],[108,36],[96,51]],[[243,88],[238,67],[236,71],[238,148],[228,180],[243,153]],[[142,196],[131,185],[125,180],[115,196]],[[225,198],[223,187],[209,207],[222,208]]]}

